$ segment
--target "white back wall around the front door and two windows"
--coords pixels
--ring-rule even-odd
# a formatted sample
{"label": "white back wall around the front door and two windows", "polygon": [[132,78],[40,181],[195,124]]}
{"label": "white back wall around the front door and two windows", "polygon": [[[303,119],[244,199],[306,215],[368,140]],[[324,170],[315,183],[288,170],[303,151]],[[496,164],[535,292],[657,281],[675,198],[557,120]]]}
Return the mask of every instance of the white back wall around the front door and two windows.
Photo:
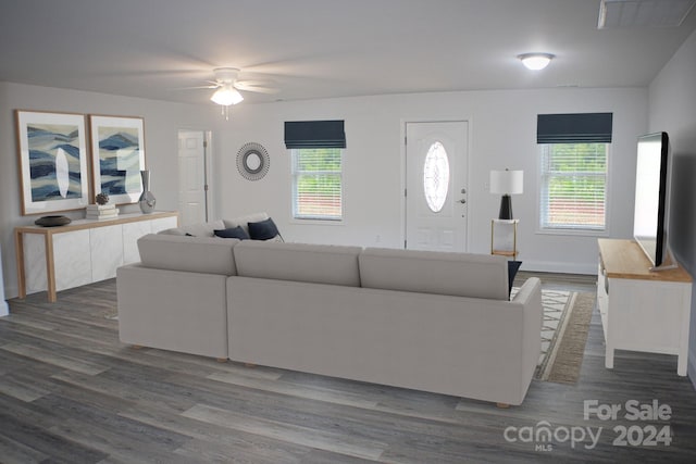
{"label": "white back wall around the front door and two windows", "polygon": [[[239,105],[231,116],[231,129],[222,134],[224,153],[217,166],[227,180],[221,184],[221,212],[233,216],[265,210],[289,240],[402,247],[403,123],[467,120],[469,251],[489,251],[490,218],[497,216],[500,201],[485,189],[489,171],[524,170],[524,193],[512,199],[520,220],[523,268],[595,274],[596,237],[536,233],[536,115],[613,113],[609,234],[625,238],[633,227],[635,139],[647,129],[647,111],[646,88],[420,93]],[[346,121],[343,225],[290,220],[290,166],[283,123],[321,118]],[[237,150],[250,141],[263,145],[271,156],[269,174],[258,181],[244,180],[236,173]]]}

